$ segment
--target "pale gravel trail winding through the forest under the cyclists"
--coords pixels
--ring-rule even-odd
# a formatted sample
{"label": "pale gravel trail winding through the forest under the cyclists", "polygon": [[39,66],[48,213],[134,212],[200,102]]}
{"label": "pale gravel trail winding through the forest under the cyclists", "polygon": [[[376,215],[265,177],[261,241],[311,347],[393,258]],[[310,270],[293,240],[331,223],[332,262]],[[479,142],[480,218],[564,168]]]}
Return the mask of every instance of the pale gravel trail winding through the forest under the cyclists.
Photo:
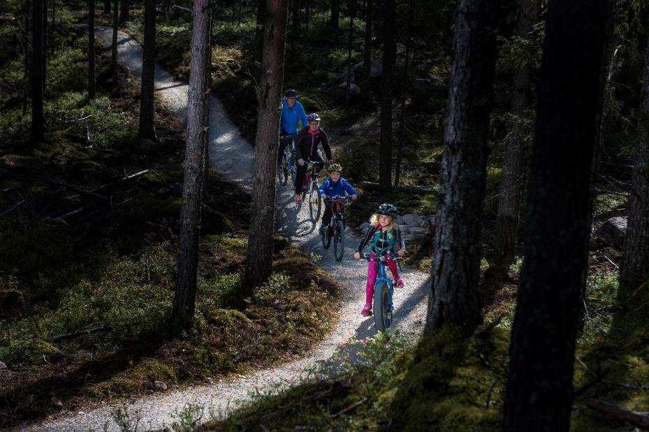
{"label": "pale gravel trail winding through the forest under the cyclists", "polygon": [[[109,27],[96,27],[97,37],[110,47],[112,30]],[[128,68],[136,77],[141,73],[142,48],[131,36],[119,31],[117,36],[119,47],[119,64]],[[164,103],[181,117],[187,112],[187,84],[173,80],[172,75],[156,66],[156,102]],[[254,148],[238,131],[238,128],[226,116],[223,105],[210,97],[210,169],[235,184],[251,188]],[[290,182],[289,182],[290,186]],[[335,366],[335,360],[330,360],[335,352],[349,352],[353,357],[355,345],[359,341],[374,334],[372,318],[363,318],[360,308],[365,301],[365,280],[367,264],[365,261],[353,260],[353,249],[360,239],[351,229],[346,231],[345,255],[341,262],[333,258],[333,247],[323,250],[318,235],[319,224],[309,220],[308,206],[302,205],[300,214],[296,214],[293,204],[293,192],[289,186],[277,188],[277,230],[291,241],[298,241],[305,251],[313,251],[322,255],[318,262],[321,267],[335,275],[342,286],[340,304],[340,320],[333,332],[317,343],[305,357],[294,362],[281,364],[272,368],[251,373],[250,375],[228,376],[215,380],[213,384],[194,385],[175,389],[166,394],[131,399],[126,401],[132,418],[140,418],[140,428],[162,429],[174,420],[174,413],[182,410],[187,404],[205,408],[212,407],[215,412],[226,412],[237,408],[242,401],[249,398],[249,393],[256,390],[269,392],[278,387],[294,385],[309,374],[316,364],[329,363]],[[426,313],[426,296],[428,294],[428,274],[422,271],[405,270],[405,288],[395,290],[395,322],[403,334],[416,338],[423,329],[423,319]],[[328,362],[330,361],[330,362]],[[20,429],[38,431],[102,431],[118,430],[112,419],[115,406],[102,406],[84,412],[63,412],[56,418],[41,424],[25,426]],[[141,429],[140,429],[141,430]]]}

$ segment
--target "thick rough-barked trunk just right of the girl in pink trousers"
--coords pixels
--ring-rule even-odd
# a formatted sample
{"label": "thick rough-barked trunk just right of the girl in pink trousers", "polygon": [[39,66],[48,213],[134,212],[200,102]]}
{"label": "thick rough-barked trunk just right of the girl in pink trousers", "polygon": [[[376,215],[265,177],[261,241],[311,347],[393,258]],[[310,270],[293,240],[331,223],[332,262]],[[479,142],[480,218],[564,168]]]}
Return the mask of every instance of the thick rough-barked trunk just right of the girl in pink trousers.
{"label": "thick rough-barked trunk just right of the girl in pink trousers", "polygon": [[460,0],[455,12],[451,92],[446,108],[432,295],[426,331],[481,322],[481,229],[496,34],[511,1]]}

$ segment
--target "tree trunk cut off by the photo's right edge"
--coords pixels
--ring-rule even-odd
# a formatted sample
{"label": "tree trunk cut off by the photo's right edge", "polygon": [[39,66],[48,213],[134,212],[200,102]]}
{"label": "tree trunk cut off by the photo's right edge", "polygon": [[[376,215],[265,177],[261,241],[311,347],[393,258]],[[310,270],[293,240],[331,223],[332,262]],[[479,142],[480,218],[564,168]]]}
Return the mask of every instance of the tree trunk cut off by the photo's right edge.
{"label": "tree trunk cut off by the photo's right edge", "polygon": [[[627,237],[622,248],[619,298],[622,304],[638,304],[646,295],[636,295],[649,285],[649,45],[645,57],[638,122],[638,144],[629,198]],[[645,292],[649,290],[646,285]]]}

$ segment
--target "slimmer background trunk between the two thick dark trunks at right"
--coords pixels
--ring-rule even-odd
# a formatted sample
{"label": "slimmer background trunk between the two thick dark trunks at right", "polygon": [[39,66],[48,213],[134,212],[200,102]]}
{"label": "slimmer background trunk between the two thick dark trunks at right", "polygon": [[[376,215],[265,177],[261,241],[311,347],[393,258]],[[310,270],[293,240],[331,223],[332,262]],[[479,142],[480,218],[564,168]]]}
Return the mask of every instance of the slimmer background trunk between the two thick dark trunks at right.
{"label": "slimmer background trunk between the two thick dark trunks at right", "polygon": [[[539,16],[539,0],[523,0],[520,3],[516,36],[525,40]],[[502,165],[500,200],[498,202],[497,229],[494,241],[495,260],[493,268],[504,274],[513,262],[518,248],[518,215],[520,198],[525,178],[525,128],[520,124],[527,117],[526,111],[532,105],[532,79],[534,71],[530,66],[518,68],[513,73],[511,112],[516,119],[511,123],[510,138]]]}

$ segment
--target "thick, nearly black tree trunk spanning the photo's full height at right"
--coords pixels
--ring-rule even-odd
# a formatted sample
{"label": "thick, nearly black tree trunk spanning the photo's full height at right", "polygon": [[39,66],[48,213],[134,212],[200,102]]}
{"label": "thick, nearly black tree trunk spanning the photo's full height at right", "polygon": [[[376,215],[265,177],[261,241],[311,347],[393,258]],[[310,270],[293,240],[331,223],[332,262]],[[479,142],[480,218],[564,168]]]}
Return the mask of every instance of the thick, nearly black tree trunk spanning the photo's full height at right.
{"label": "thick, nearly black tree trunk spanning the photo's full height at right", "polygon": [[610,0],[549,3],[506,431],[568,431]]}

